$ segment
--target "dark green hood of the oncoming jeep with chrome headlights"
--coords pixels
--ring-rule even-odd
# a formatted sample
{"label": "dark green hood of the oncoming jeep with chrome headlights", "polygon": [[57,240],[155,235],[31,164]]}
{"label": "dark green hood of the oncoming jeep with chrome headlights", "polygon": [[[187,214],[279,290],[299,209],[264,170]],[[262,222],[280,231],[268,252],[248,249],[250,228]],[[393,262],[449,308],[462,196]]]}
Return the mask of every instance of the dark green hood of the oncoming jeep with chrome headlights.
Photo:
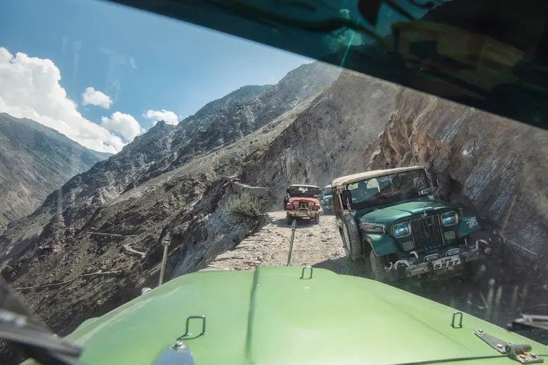
{"label": "dark green hood of the oncoming jeep with chrome headlights", "polygon": [[380,208],[377,207],[374,211],[362,209],[361,211],[356,212],[356,216],[360,219],[360,222],[363,223],[379,223],[389,226],[396,220],[410,217],[411,215],[417,215],[424,213],[425,211],[426,213],[431,213],[433,211],[444,211],[447,209],[455,209],[455,206],[446,201],[424,197],[382,206]]}

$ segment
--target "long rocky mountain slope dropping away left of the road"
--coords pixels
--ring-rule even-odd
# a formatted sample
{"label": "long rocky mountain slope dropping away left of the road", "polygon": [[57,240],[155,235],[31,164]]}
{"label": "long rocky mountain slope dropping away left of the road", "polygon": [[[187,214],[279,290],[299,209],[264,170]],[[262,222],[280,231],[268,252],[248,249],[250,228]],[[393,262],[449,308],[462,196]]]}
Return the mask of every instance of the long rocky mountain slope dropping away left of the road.
{"label": "long rocky mountain slope dropping away left of the road", "polygon": [[177,126],[160,121],[0,236],[3,277],[66,333],[157,284],[167,230],[167,277],[204,267],[261,225],[269,192],[239,182],[242,166],[259,159],[339,73],[304,65]]}

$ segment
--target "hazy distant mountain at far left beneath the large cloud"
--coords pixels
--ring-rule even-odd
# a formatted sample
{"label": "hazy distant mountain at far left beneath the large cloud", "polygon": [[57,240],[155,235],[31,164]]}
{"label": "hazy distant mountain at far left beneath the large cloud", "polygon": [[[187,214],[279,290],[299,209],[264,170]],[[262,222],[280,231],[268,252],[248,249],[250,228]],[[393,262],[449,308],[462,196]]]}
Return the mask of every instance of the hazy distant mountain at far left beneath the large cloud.
{"label": "hazy distant mountain at far left beneath the large cloud", "polygon": [[109,156],[36,121],[0,113],[0,232],[72,176]]}

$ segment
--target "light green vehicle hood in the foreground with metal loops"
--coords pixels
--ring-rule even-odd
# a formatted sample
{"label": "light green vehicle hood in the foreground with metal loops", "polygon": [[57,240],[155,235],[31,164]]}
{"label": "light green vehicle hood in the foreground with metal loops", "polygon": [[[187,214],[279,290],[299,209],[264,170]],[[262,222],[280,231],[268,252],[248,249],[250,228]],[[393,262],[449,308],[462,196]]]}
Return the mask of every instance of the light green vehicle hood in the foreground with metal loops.
{"label": "light green vehicle hood in the foreground with metal loops", "polygon": [[[308,277],[306,270],[304,277]],[[301,267],[254,272],[198,272],[173,279],[143,296],[84,322],[68,340],[82,345],[84,364],[149,365],[185,333],[196,364],[518,364],[474,335],[548,348],[454,310],[370,279]],[[453,363],[452,362],[452,363]]]}

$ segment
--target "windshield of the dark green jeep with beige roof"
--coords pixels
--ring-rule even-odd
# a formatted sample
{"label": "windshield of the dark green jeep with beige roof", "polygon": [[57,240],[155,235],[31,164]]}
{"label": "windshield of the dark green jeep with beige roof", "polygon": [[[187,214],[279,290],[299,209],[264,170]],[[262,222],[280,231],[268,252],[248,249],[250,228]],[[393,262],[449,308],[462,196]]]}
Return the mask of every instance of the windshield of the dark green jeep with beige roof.
{"label": "windshield of the dark green jeep with beige roof", "polygon": [[405,171],[379,176],[348,185],[352,203],[358,206],[389,204],[403,199],[420,197],[431,189],[424,170]]}

